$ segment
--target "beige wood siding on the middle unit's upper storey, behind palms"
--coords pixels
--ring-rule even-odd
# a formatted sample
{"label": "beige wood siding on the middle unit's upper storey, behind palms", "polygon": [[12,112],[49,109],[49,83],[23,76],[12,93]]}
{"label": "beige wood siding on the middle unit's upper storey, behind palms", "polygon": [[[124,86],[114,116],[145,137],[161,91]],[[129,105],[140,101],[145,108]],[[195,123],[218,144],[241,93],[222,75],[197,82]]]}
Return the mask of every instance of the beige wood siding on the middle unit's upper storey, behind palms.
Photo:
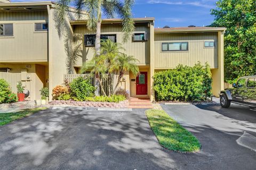
{"label": "beige wood siding on the middle unit's upper storey, behind palms", "polygon": [[[147,24],[136,24],[136,29],[134,32],[148,32],[149,38],[149,28]],[[101,34],[116,34],[116,41],[117,43],[122,43],[122,35],[121,32],[121,25],[117,24],[109,24],[109,25],[102,25]],[[86,25],[74,25],[74,33],[83,37],[84,43],[84,35],[95,33],[93,31],[89,31],[86,28]],[[139,41],[134,42],[132,41],[132,37],[127,43],[123,44],[125,48],[125,53],[127,55],[132,55],[139,60],[139,65],[146,65],[149,64],[149,53],[150,53],[150,45],[148,41]],[[94,47],[86,47],[83,44],[82,50],[82,61],[85,62],[87,60],[91,60],[94,55]],[[82,65],[82,63],[80,63]]]}

